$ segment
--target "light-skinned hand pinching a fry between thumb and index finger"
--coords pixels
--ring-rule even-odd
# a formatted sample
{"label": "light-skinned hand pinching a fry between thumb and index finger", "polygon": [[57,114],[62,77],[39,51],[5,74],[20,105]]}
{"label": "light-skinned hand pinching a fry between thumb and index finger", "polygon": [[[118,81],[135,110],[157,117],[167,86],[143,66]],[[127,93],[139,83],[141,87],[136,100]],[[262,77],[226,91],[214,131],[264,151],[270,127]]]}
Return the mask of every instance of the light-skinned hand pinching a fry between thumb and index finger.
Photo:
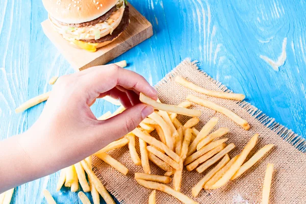
{"label": "light-skinned hand pinching a fry between thumb and index finger", "polygon": [[[157,91],[141,75],[114,64],[60,77],[39,119],[29,131],[17,136],[20,154],[30,163],[23,168],[23,173],[32,173],[31,180],[53,173],[135,129],[154,111],[140,103],[139,92],[157,99]],[[96,98],[105,95],[118,98],[127,109],[99,121],[90,106]]]}

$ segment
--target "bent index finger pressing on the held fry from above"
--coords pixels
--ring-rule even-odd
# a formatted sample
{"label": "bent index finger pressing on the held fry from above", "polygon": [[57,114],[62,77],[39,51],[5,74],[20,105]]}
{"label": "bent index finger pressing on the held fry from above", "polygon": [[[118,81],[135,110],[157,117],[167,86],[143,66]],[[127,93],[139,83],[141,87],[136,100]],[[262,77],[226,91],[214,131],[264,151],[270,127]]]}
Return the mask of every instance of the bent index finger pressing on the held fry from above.
{"label": "bent index finger pressing on the held fry from above", "polygon": [[94,90],[95,95],[104,93],[119,85],[126,89],[142,92],[157,100],[157,91],[138,73],[123,69],[115,64],[91,67],[81,75],[82,86]]}

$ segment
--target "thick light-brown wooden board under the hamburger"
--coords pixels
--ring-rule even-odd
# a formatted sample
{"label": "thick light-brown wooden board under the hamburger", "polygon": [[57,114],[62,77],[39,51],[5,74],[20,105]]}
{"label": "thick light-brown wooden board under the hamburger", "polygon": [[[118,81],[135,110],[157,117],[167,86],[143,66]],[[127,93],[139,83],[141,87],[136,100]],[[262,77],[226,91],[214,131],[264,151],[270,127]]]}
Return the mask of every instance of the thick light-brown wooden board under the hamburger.
{"label": "thick light-brown wooden board under the hamburger", "polygon": [[72,67],[81,71],[91,66],[106,64],[153,35],[152,24],[131,4],[129,6],[129,26],[116,40],[98,48],[95,53],[71,46],[53,29],[49,20],[43,21],[41,26],[45,35],[60,50]]}

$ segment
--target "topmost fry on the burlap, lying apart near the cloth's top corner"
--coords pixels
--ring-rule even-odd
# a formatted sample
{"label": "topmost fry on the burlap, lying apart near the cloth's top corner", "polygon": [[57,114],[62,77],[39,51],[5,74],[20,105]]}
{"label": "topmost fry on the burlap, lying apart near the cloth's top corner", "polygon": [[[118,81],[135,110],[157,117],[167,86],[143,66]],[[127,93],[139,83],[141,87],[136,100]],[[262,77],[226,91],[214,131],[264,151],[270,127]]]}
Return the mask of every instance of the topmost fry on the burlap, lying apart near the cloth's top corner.
{"label": "topmost fry on the burlap, lying apart near the cloth's top corner", "polygon": [[180,76],[177,76],[175,78],[175,82],[185,86],[186,88],[194,90],[198,93],[202,93],[202,94],[217,97],[217,98],[225,98],[225,99],[233,99],[233,100],[243,100],[245,98],[245,95],[240,94],[240,93],[226,93],[226,92],[213,91],[213,90],[208,90],[208,89],[199,87],[193,84],[192,82],[188,82],[186,79]]}

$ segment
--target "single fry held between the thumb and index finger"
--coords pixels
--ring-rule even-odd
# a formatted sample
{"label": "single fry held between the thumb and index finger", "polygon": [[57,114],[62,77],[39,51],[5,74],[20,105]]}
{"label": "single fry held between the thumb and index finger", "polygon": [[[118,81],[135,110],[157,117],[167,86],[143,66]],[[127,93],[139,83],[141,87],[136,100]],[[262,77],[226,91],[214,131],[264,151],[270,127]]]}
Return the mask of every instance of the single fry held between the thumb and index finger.
{"label": "single fry held between the thumb and index finger", "polygon": [[158,109],[161,111],[166,111],[170,113],[177,113],[181,115],[187,115],[191,117],[199,117],[201,115],[201,111],[199,110],[192,110],[192,109],[187,109],[179,106],[174,106],[174,105],[168,105],[168,104],[162,104],[157,102],[156,100],[153,100],[152,98],[147,97],[143,93],[140,93],[139,100],[147,105],[152,106],[154,109]]}

